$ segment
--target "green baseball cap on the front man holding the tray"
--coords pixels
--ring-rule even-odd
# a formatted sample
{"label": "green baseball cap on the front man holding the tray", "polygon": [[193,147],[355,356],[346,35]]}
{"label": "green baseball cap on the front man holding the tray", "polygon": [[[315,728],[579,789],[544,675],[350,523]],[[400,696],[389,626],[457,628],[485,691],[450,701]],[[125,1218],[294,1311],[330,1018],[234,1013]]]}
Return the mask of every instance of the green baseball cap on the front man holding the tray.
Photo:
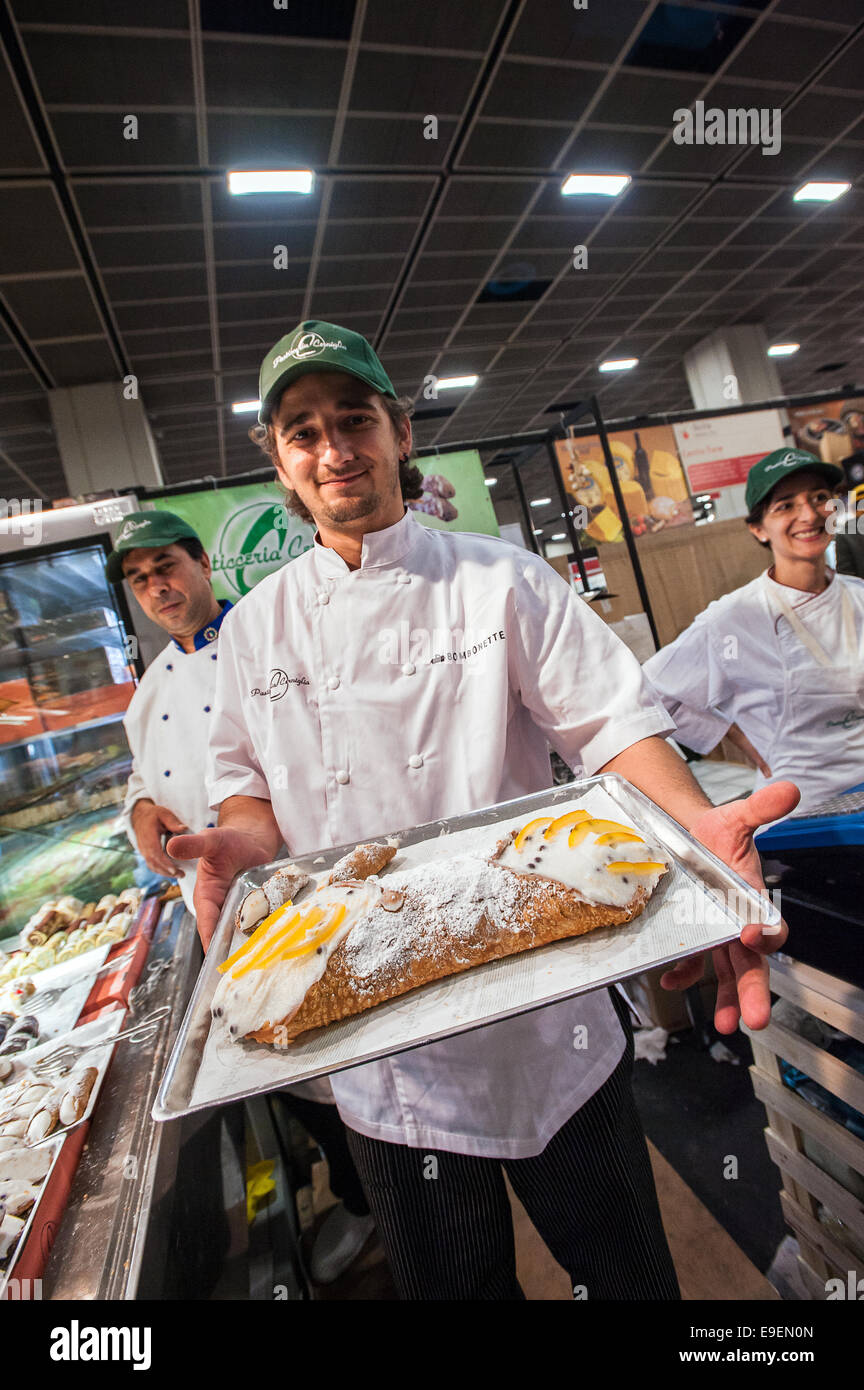
{"label": "green baseball cap on the front man holding the tray", "polygon": [[321,318],[304,318],[267,353],[258,375],[258,423],[265,425],[269,413],[286,386],[308,371],[347,371],[365,381],[382,396],[396,396],[393,382],[378,360],[378,353],[361,334]]}

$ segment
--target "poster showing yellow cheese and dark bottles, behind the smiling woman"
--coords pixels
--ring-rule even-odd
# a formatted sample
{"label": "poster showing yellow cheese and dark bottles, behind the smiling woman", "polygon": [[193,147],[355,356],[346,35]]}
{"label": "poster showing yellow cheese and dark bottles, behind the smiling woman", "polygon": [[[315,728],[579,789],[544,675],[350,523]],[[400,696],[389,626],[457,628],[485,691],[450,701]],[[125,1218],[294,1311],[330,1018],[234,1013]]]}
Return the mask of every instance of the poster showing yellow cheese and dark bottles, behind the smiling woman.
{"label": "poster showing yellow cheese and dark bottles, behind the smiling woman", "polygon": [[[693,521],[690,493],[671,425],[620,430],[608,435],[624,506],[633,535],[653,535]],[[624,539],[618,503],[599,435],[556,441],[564,489],[588,513],[585,534],[595,543]]]}

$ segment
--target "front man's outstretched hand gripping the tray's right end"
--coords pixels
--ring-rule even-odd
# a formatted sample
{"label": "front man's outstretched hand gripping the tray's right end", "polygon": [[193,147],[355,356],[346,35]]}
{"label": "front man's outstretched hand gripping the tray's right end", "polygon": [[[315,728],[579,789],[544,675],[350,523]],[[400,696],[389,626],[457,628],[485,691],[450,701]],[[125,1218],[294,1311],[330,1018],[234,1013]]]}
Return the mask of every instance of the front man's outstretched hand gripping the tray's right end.
{"label": "front man's outstretched hand gripping the tray's right end", "polygon": [[[771,820],[781,820],[795,810],[800,792],[795,783],[779,781],[760,787],[745,801],[706,810],[690,828],[696,840],[735,869],[746,883],[763,891],[764,881],[753,834]],[[764,927],[754,922],[738,938],[718,947],[714,955],[717,972],[717,1005],[714,1027],[718,1033],[735,1033],[739,1017],[749,1029],[764,1029],[771,1017],[768,992],[768,962],[765,956],[779,951],[788,935],[785,922],[778,927]],[[686,990],[701,980],[704,955],[686,956],[660,983],[664,990]]]}

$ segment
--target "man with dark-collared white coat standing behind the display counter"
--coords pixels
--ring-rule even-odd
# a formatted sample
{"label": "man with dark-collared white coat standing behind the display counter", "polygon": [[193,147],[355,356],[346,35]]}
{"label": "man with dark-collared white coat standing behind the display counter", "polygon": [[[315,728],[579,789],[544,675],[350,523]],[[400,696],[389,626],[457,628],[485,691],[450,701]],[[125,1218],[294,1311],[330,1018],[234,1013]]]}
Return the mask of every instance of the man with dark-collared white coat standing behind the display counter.
{"label": "man with dark-collared white coat standing behind the display counter", "polygon": [[[150,663],[129,702],[124,727],[132,749],[126,787],[126,833],[150,869],[178,878],[194,912],[196,863],[171,859],[165,833],[215,826],[204,764],[215,705],[218,638],[232,607],[217,599],[211,566],[199,535],[171,512],[133,512],[122,523],[106,566],[108,580],[126,580],[147,617],[171,641]],[[365,1202],[344,1126],[326,1079],[278,1093],[325,1152],[339,1205],[328,1215],[310,1269],[332,1283],[356,1258],[374,1222]]]}

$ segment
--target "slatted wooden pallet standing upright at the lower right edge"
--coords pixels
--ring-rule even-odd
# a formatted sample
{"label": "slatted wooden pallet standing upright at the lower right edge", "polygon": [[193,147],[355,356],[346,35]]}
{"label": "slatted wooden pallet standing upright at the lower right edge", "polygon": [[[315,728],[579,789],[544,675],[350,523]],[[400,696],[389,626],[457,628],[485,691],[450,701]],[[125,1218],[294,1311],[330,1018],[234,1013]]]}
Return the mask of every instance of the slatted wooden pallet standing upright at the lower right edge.
{"label": "slatted wooden pallet standing upright at the lower right edge", "polygon": [[[778,955],[771,958],[771,990],[831,1027],[864,1042],[864,991],[847,981],[814,970],[790,956]],[[815,1140],[863,1177],[864,1143],[783,1086],[779,1061],[783,1058],[806,1072],[826,1091],[861,1113],[864,1076],[781,1023],[771,1022],[758,1033],[749,1029],[745,1031],[753,1045],[753,1088],[768,1116],[765,1143],[782,1173],[783,1215],[799,1241],[801,1280],[811,1298],[824,1300],[828,1297],[825,1286],[829,1279],[842,1279],[847,1284],[850,1270],[856,1272],[856,1279],[864,1277],[864,1258],[842,1234],[818,1220],[818,1207],[824,1204],[831,1208],[847,1227],[850,1238],[864,1251],[864,1204],[804,1152],[804,1141],[807,1136]]]}

